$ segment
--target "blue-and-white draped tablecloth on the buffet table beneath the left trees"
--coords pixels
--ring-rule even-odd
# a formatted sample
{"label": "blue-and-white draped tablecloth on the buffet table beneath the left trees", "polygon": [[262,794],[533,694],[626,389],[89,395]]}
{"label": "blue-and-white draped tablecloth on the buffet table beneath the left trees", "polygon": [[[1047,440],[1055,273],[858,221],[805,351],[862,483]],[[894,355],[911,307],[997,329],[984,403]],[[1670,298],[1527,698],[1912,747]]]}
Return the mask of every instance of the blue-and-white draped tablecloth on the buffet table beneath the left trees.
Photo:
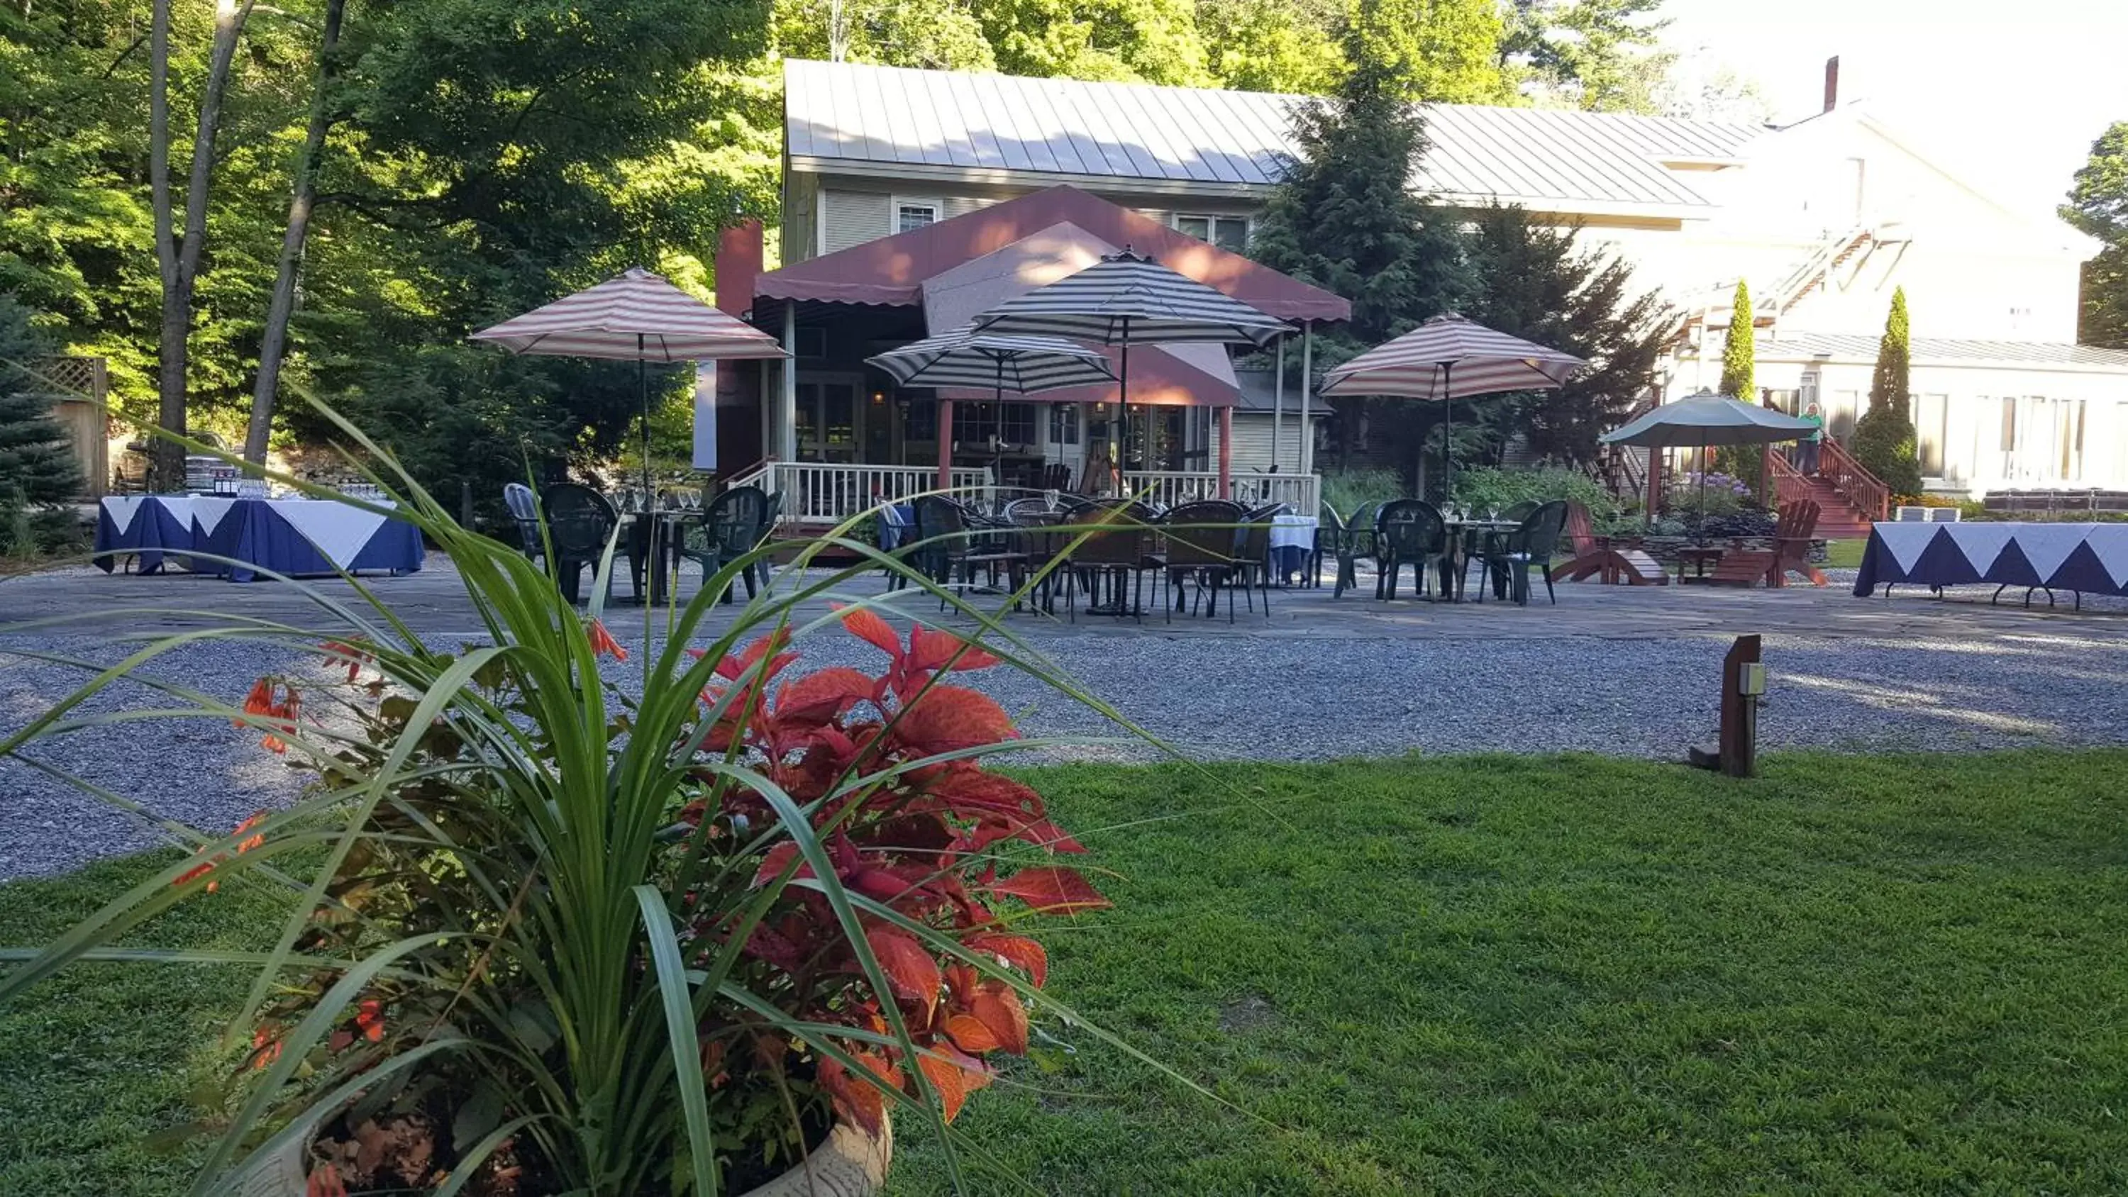
{"label": "blue-and-white draped tablecloth on the buffet table beneath the left trees", "polygon": [[[134,504],[136,510],[128,510]],[[185,568],[232,583],[255,580],[260,570],[298,578],[338,570],[411,574],[421,568],[423,555],[421,532],[400,519],[323,500],[219,495],[104,500],[96,551],[113,553],[98,557],[104,570],[119,553],[134,551],[143,572],[162,568],[174,555]],[[183,557],[183,551],[240,563]]]}

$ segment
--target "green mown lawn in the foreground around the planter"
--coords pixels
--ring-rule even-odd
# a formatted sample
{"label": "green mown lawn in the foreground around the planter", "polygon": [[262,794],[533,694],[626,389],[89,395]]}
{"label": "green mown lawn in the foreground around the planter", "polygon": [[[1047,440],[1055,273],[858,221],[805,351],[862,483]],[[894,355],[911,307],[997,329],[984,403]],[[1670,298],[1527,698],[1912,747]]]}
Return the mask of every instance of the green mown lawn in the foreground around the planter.
{"label": "green mown lawn in the foreground around the planter", "polygon": [[[1051,923],[1051,991],[1241,1110],[1049,1018],[1079,1050],[960,1125],[1102,1197],[2128,1193],[2128,753],[1766,772],[1041,772],[1117,901]],[[0,940],[138,870],[0,887]],[[0,1010],[0,1193],[172,1191],[130,1144],[230,982],[121,976]],[[896,1197],[941,1188],[907,1135]]]}

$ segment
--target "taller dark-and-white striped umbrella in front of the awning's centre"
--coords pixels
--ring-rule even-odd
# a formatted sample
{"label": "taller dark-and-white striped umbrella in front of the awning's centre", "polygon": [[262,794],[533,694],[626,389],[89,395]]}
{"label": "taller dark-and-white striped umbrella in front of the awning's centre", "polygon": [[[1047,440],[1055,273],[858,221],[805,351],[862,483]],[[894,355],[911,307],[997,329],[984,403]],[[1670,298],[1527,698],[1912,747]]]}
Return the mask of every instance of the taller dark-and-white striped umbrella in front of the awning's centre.
{"label": "taller dark-and-white striped umbrella in front of the awning's centre", "polygon": [[1285,321],[1151,257],[1138,257],[1128,247],[1077,274],[1004,300],[970,323],[979,332],[1004,336],[1068,336],[1119,347],[1117,404],[1126,419],[1132,344],[1221,342],[1262,349],[1292,332]]}

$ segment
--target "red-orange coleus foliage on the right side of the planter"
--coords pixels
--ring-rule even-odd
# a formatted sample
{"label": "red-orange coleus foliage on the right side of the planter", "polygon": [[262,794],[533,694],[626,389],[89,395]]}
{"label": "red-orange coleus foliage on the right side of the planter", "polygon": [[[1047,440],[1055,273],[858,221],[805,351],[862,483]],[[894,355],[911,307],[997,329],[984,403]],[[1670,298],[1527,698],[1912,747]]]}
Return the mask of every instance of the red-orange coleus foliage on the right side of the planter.
{"label": "red-orange coleus foliage on the right side of the planter", "polygon": [[[1017,736],[1004,708],[941,680],[998,659],[949,631],[913,627],[902,640],[864,608],[845,610],[843,625],[887,655],[883,672],[834,665],[779,682],[796,653],[785,634],[764,636],[717,663],[702,697],[732,702],[696,751],[745,757],[807,806],[841,889],[898,916],[862,914],[864,942],[887,982],[887,993],[875,993],[800,846],[775,842],[753,870],[755,889],[783,882],[747,931],[745,957],[766,974],[753,989],[785,995],[779,1006],[800,1021],[860,1031],[834,1044],[843,1059],[817,1057],[817,1082],[836,1112],[877,1133],[885,1114],[879,1086],[915,1093],[913,1072],[921,1072],[953,1118],[968,1093],[992,1080],[983,1057],[1028,1050],[1021,993],[1047,980],[1049,961],[1011,918],[1092,910],[1107,899],[1077,870],[1030,863],[1030,848],[1041,853],[1034,861],[1085,848],[1049,821],[1034,789],[985,772],[977,751]],[[745,691],[730,693],[738,685]],[[749,789],[726,789],[715,804],[689,804],[683,821],[698,827],[709,816],[726,842],[775,821]],[[738,923],[736,910],[719,910],[694,933],[721,944]],[[1024,980],[979,970],[977,959]],[[885,1004],[900,1014],[915,1059],[890,1046]],[[717,1059],[726,1059],[721,1044]],[[845,1059],[872,1082],[851,1076]]]}

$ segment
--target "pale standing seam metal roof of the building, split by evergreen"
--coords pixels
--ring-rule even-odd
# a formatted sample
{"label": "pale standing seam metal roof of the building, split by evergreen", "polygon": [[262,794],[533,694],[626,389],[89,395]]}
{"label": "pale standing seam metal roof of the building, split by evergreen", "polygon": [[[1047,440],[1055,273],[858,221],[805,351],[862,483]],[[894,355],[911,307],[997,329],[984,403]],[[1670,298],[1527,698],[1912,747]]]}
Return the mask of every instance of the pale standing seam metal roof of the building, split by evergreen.
{"label": "pale standing seam metal roof of the building, split by evergreen", "polygon": [[[792,157],[1270,187],[1304,96],[953,70],[783,64]],[[1430,104],[1413,185],[1522,204],[1702,208],[1666,159],[1734,157],[1766,130],[1562,108]]]}

